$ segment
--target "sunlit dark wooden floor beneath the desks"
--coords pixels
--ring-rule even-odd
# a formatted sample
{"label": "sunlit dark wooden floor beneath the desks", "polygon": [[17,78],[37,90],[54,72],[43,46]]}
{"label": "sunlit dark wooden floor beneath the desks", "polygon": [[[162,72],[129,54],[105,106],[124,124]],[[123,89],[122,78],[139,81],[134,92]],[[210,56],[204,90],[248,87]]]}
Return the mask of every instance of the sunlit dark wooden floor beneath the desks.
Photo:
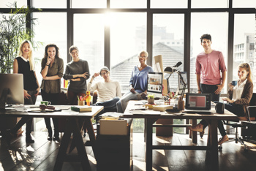
{"label": "sunlit dark wooden floor beneath the desks", "polygon": [[[7,146],[3,137],[0,137],[0,170],[53,170],[59,143],[49,142],[46,132],[33,132],[34,144],[26,145],[25,135],[14,138]],[[198,136],[197,145],[206,145],[207,135],[203,139]],[[173,137],[155,137],[154,143],[165,145],[193,145],[187,134],[174,134]],[[195,145],[195,144],[194,144]],[[142,133],[133,134],[133,170],[145,170],[145,143]],[[235,142],[227,142],[219,151],[219,170],[256,170],[256,151],[252,145],[245,152],[244,147]],[[90,147],[86,147],[92,170],[96,170],[96,161]],[[75,152],[75,151],[73,151]],[[153,152],[152,170],[200,171],[208,170],[208,156],[206,151],[168,151]],[[63,170],[82,170],[80,163],[65,162]]]}

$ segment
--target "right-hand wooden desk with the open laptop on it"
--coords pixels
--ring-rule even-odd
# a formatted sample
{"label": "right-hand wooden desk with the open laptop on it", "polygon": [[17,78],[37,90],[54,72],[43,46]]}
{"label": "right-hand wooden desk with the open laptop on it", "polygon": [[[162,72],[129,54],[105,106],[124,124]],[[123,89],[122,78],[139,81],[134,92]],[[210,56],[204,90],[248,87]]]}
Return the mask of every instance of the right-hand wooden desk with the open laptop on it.
{"label": "right-hand wooden desk with the open laptop on it", "polygon": [[[219,170],[219,159],[218,159],[218,134],[217,134],[217,121],[218,120],[236,120],[237,116],[233,113],[229,113],[225,110],[225,114],[216,114],[213,110],[211,115],[198,115],[198,114],[185,114],[185,115],[176,115],[176,114],[167,114],[163,113],[161,115],[152,115],[152,114],[132,114],[129,113],[129,110],[135,108],[136,101],[129,101],[127,109],[124,112],[123,118],[144,118],[146,122],[146,170],[152,170],[152,151],[157,149],[165,150],[206,150],[211,153],[211,169]],[[157,119],[192,119],[196,121],[197,119],[206,119],[209,123],[208,127],[208,142],[207,146],[191,146],[191,145],[153,145],[152,134],[153,134],[153,124]]]}

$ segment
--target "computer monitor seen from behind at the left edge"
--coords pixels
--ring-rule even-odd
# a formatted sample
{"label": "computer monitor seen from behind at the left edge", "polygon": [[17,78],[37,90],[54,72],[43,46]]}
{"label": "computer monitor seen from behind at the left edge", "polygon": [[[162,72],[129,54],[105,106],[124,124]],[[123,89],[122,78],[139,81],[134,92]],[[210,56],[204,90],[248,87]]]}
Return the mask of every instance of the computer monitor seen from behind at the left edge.
{"label": "computer monitor seen from behind at the left edge", "polygon": [[0,74],[0,108],[5,104],[24,104],[23,75]]}

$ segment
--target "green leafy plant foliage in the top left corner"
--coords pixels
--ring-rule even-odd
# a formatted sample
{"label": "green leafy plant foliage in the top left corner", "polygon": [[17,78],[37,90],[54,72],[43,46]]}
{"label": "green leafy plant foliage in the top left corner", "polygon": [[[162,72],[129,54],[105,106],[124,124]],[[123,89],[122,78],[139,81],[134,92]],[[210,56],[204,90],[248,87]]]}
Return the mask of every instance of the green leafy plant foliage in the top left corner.
{"label": "green leafy plant foliage in the top left corner", "polygon": [[[34,31],[26,27],[27,21],[31,27],[35,25],[36,18],[31,18],[34,9],[17,7],[17,2],[10,5],[11,12],[0,17],[0,73],[10,73],[14,58],[18,55],[18,47],[24,39],[29,39],[33,47],[42,45],[34,42]],[[26,19],[27,18],[27,19]]]}

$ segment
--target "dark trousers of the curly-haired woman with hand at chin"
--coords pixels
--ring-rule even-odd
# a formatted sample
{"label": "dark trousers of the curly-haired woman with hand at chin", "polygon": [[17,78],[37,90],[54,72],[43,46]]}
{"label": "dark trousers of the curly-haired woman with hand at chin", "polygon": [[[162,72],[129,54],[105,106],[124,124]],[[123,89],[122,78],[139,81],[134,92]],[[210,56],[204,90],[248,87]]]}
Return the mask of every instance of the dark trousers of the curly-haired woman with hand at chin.
{"label": "dark trousers of the curly-haired woman with hand at chin", "polygon": [[[58,104],[59,94],[51,94],[51,93],[48,94],[42,89],[41,89],[41,94],[42,94],[43,101],[51,102],[51,104],[53,105]],[[53,126],[54,126],[54,135],[59,136],[59,119],[52,118],[52,120],[53,120]],[[45,118],[45,125],[46,125],[46,128],[48,129],[48,134],[52,136],[53,131],[50,126],[50,118]]]}

